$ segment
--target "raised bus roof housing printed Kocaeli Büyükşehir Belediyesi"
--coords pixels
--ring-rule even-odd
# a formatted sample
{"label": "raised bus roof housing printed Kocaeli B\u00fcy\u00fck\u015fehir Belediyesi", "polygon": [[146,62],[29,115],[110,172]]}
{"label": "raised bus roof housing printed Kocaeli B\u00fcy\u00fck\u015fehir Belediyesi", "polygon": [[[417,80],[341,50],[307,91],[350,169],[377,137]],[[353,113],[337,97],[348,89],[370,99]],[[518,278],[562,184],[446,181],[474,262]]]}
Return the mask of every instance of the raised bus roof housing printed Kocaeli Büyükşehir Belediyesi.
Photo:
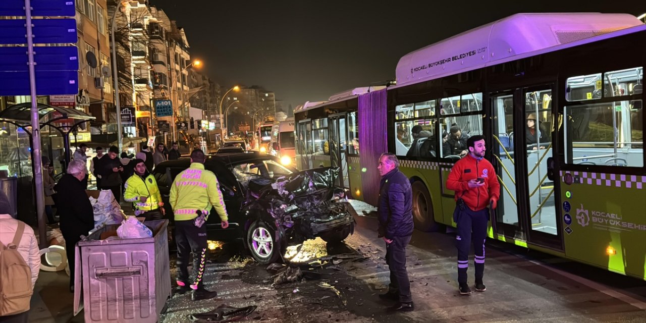
{"label": "raised bus roof housing printed Kocaeli B\u00fcy\u00fck\u015fehir Belediyesi", "polygon": [[406,54],[397,63],[396,87],[596,41],[634,26],[644,24],[630,14],[515,14]]}

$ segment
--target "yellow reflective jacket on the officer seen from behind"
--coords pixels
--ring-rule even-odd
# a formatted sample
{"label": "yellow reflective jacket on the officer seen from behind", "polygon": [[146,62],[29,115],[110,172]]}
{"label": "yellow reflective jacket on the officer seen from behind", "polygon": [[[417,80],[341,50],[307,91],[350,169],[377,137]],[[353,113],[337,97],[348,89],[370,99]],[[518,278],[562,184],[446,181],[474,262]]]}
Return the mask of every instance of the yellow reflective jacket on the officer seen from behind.
{"label": "yellow reflective jacket on the officer seen from behind", "polygon": [[220,220],[229,220],[218,178],[205,170],[202,163],[191,163],[191,167],[175,177],[169,203],[176,221],[193,220],[197,217],[197,210],[208,218],[212,206]]}

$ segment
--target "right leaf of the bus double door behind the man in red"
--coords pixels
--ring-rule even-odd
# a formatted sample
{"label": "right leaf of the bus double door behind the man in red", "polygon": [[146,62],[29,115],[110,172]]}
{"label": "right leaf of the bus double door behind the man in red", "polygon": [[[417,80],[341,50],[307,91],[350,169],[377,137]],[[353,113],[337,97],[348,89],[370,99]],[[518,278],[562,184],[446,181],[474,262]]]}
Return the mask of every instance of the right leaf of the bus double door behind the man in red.
{"label": "right leaf of the bus double door behind the man in red", "polygon": [[559,230],[561,222],[558,221],[557,213],[560,195],[556,194],[557,185],[547,176],[547,163],[554,154],[553,142],[557,141],[557,138],[552,138],[552,134],[556,133],[552,88],[552,85],[543,85],[522,90],[523,114],[516,116],[514,138],[516,148],[521,152],[516,156],[525,160],[524,163],[519,163],[522,168],[519,178],[523,179],[521,182],[525,182],[523,189],[519,191],[524,202],[519,203],[519,214],[527,220],[528,240],[561,250],[562,231]]}

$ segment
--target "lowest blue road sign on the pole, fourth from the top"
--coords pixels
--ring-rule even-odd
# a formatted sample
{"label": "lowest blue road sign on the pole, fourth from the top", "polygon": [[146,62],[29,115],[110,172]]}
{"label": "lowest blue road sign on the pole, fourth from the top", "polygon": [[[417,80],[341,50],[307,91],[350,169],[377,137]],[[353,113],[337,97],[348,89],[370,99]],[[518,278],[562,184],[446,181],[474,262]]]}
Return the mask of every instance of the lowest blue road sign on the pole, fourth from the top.
{"label": "lowest blue road sign on the pole, fourth from the top", "polygon": [[[78,94],[78,70],[36,72],[36,93],[39,96]],[[0,96],[28,96],[29,72],[0,71]]]}

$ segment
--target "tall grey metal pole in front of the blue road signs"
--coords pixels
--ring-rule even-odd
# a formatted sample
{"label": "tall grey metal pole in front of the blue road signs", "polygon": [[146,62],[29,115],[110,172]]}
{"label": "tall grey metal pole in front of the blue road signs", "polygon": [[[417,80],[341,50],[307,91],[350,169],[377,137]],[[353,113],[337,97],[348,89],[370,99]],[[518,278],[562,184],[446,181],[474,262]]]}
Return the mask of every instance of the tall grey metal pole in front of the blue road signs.
{"label": "tall grey metal pole in front of the blue road signs", "polygon": [[25,0],[25,16],[27,27],[27,53],[29,56],[29,86],[32,96],[32,152],[34,154],[34,182],[36,183],[36,214],[38,218],[38,234],[41,237],[41,249],[47,247],[47,222],[45,219],[45,196],[43,196],[43,162],[41,160],[40,116],[38,101],[36,101],[36,69],[34,66],[34,39],[32,38],[32,6],[31,0]]}

